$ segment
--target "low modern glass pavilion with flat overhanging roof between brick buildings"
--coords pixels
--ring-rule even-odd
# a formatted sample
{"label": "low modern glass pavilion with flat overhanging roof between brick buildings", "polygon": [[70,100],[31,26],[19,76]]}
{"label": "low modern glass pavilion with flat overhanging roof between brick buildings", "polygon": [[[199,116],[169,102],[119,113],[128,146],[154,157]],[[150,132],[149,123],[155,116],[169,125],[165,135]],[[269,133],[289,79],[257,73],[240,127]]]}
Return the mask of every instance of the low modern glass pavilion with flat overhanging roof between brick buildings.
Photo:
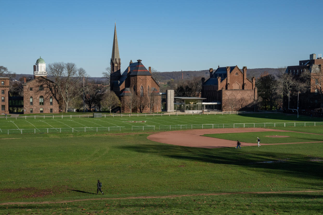
{"label": "low modern glass pavilion with flat overhanging roof between brick buildings", "polygon": [[202,101],[204,99],[206,98],[174,97],[174,110],[191,113],[202,111]]}

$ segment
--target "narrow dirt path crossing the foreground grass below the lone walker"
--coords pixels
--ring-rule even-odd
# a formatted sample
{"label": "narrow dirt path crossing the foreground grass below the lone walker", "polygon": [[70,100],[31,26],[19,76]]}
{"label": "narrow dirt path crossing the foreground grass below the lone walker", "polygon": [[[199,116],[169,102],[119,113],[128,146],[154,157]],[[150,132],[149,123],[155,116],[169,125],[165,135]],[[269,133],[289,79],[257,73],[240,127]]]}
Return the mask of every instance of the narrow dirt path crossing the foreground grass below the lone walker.
{"label": "narrow dirt path crossing the foreground grass below the lone walker", "polygon": [[77,200],[61,200],[61,201],[30,201],[30,202],[5,202],[0,205],[28,205],[28,204],[60,204],[76,201],[91,201],[91,200],[118,200],[118,199],[161,199],[161,198],[176,198],[185,196],[218,196],[218,195],[234,195],[234,194],[270,194],[270,193],[310,193],[310,192],[323,192],[319,191],[269,191],[269,192],[226,192],[226,193],[199,193],[199,194],[186,194],[186,195],[169,195],[169,196],[132,196],[124,198],[94,198],[94,199],[77,199]]}

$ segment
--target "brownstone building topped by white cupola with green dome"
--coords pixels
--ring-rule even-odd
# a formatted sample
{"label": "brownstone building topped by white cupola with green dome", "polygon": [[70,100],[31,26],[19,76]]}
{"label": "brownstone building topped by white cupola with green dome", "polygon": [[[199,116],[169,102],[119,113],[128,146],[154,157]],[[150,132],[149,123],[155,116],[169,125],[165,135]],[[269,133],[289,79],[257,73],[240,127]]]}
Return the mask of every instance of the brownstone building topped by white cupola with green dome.
{"label": "brownstone building topped by white cupola with green dome", "polygon": [[34,79],[23,83],[24,114],[58,113],[58,102],[52,93],[53,83],[47,79],[46,64],[40,57],[34,65]]}

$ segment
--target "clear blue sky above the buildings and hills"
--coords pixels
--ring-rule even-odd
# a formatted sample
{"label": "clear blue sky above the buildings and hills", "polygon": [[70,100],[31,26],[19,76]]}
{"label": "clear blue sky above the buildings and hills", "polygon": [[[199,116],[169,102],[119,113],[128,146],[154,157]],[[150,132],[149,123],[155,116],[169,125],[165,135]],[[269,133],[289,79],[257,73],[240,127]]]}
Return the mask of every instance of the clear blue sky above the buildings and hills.
{"label": "clear blue sky above the buildings and hills", "polygon": [[298,65],[323,54],[322,8],[322,0],[0,0],[0,65],[32,74],[41,56],[100,77],[115,21],[121,71],[137,59],[160,72]]}

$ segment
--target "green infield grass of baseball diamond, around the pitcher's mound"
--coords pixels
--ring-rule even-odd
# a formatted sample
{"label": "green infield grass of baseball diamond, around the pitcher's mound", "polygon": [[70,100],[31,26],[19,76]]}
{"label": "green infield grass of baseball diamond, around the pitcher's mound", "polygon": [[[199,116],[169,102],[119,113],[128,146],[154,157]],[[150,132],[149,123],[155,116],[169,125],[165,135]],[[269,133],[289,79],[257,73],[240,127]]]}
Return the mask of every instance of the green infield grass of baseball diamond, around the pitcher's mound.
{"label": "green infield grass of baseball diamond, around the pitcher's mound", "polygon": [[[322,127],[319,126],[321,129]],[[268,136],[289,136],[289,137],[268,137]],[[240,142],[256,143],[257,138],[261,143],[288,143],[288,142],[318,142],[323,141],[323,135],[298,133],[298,132],[245,132],[245,133],[222,133],[222,134],[204,134],[203,136],[214,137],[226,140],[239,140]]]}

